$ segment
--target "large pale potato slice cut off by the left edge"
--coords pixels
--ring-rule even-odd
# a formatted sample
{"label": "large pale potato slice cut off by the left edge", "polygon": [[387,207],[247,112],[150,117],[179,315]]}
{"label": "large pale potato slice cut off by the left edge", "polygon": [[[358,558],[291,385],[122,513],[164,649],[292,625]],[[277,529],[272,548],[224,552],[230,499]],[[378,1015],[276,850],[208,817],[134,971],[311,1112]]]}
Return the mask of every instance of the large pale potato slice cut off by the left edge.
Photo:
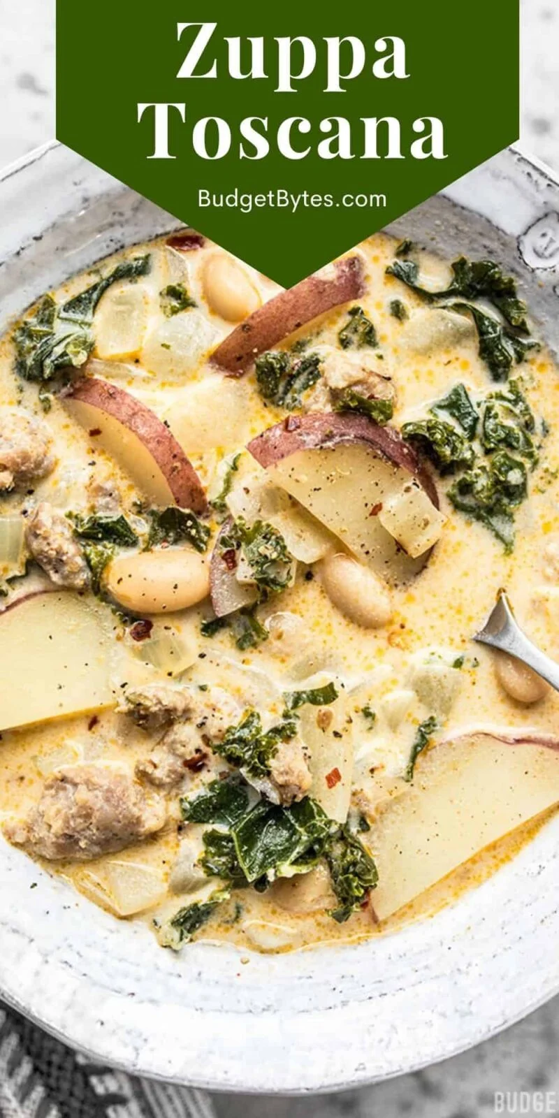
{"label": "large pale potato slice cut off by the left edge", "polygon": [[115,705],[113,619],[70,591],[20,599],[0,615],[0,730]]}

